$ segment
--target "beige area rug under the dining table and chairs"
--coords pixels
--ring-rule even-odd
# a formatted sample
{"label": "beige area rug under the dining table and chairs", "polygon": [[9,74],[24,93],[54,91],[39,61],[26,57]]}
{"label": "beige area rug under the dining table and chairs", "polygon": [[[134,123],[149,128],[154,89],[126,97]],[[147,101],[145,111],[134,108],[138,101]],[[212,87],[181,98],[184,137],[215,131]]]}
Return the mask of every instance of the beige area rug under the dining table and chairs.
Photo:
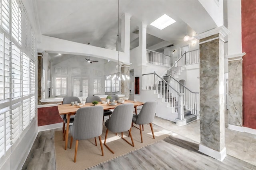
{"label": "beige area rug under the dining table and chairs", "polygon": [[[100,149],[100,141],[97,137],[97,146],[95,146],[95,141],[93,139],[79,141],[78,151],[76,156],[76,163],[74,162],[74,150],[76,141],[72,143],[72,149],[70,149],[70,135],[68,137],[68,149],[65,150],[65,142],[62,138],[62,131],[55,131],[54,145],[55,145],[55,158],[56,158],[56,169],[57,170],[84,170],[91,168],[103,162],[107,162],[119,156],[128,154],[134,150],[141,149],[150,144],[156,143],[166,137],[169,137],[168,131],[157,131],[154,129],[155,139],[152,137],[151,129],[149,125],[144,125],[144,131],[142,133],[143,143],[140,141],[140,130],[132,127],[132,138],[134,140],[135,147],[132,147],[120,138],[121,133],[116,136],[112,132],[108,132],[107,145],[112,149],[115,154],[112,154],[110,150],[106,148],[103,144],[105,139],[106,127],[103,126],[103,133],[101,135],[102,145],[104,150],[104,156],[102,156]],[[128,137],[128,132],[124,133],[126,140],[131,142],[130,137]]]}

